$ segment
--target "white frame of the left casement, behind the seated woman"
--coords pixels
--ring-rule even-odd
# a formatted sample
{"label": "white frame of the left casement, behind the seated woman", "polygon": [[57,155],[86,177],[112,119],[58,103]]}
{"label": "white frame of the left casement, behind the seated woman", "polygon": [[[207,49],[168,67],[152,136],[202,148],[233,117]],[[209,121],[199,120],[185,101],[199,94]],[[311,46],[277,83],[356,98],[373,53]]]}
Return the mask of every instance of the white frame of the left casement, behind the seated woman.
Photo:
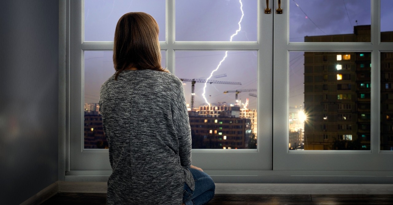
{"label": "white frame of the left casement, behind the seated woman", "polygon": [[[108,159],[108,150],[84,149],[83,146],[83,85],[84,85],[84,51],[111,51],[113,42],[84,42],[83,36],[83,1],[67,1],[66,9],[69,22],[70,57],[68,71],[69,88],[67,105],[69,107],[69,130],[66,154],[66,180],[85,180],[86,177],[95,181],[105,181],[111,174]],[[272,42],[261,42],[262,36],[271,39],[271,30],[257,29],[256,42],[185,42],[175,41],[175,0],[166,0],[166,40],[160,42],[162,50],[166,52],[166,67],[176,75],[174,67],[175,51],[257,51],[258,75],[258,145],[257,149],[250,150],[217,150],[193,149],[193,164],[202,167],[206,172],[221,176],[232,176],[233,173],[250,173],[255,170],[272,170],[272,121],[263,122],[262,119],[272,118]],[[257,22],[260,27],[273,27],[272,15],[261,14],[261,0],[258,1]],[[108,68],[110,69],[110,68]],[[71,83],[72,82],[72,83]],[[261,106],[263,105],[263,106]],[[209,159],[209,160],[206,160]],[[94,161],[94,163],[93,163]],[[242,167],[242,171],[239,170]],[[222,170],[215,174],[215,170]],[[245,174],[249,175],[249,174]],[[82,177],[83,176],[83,177]],[[84,178],[84,179],[83,179]],[[214,176],[213,176],[214,178]],[[231,177],[230,177],[231,178]]]}

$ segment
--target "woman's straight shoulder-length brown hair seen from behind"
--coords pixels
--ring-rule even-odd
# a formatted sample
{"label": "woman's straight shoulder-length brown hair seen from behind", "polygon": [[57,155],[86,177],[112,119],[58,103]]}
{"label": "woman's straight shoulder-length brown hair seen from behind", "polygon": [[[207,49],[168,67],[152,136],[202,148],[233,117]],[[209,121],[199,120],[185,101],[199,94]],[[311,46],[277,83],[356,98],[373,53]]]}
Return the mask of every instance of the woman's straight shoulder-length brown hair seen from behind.
{"label": "woman's straight shoulder-length brown hair seen from behind", "polygon": [[147,13],[130,12],[121,16],[113,45],[115,80],[128,68],[169,72],[161,67],[158,33],[156,20]]}

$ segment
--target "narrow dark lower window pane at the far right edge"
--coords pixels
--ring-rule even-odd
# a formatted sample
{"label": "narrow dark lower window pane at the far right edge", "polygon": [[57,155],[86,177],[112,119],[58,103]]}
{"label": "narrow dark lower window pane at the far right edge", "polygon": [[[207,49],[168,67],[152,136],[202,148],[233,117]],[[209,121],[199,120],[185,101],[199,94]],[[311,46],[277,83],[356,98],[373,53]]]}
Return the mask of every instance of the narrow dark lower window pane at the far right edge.
{"label": "narrow dark lower window pane at the far right edge", "polygon": [[393,53],[381,53],[381,150],[393,150]]}

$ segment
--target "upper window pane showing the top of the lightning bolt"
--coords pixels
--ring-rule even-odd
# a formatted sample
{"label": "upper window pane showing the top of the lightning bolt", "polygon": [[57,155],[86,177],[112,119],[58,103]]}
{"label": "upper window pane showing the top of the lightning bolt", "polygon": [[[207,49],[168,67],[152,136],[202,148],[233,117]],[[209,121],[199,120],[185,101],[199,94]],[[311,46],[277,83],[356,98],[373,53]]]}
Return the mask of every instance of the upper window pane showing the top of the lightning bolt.
{"label": "upper window pane showing the top of the lightning bolt", "polygon": [[176,1],[177,41],[257,41],[257,1]]}

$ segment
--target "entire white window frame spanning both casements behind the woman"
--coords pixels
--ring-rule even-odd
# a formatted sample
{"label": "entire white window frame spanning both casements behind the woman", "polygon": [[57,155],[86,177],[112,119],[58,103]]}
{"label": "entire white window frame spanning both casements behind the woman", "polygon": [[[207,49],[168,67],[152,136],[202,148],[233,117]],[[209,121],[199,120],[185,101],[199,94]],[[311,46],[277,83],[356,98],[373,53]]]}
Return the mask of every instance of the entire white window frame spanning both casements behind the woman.
{"label": "entire white window frame spanning both casements behind the woman", "polygon": [[[288,37],[287,12],[290,0],[282,2],[281,8],[284,12],[281,15],[275,14],[276,3],[270,5],[271,14],[264,14],[266,2],[258,0],[257,42],[175,42],[175,0],[166,0],[166,41],[160,42],[160,45],[166,51],[166,67],[174,74],[176,50],[258,51],[257,94],[264,97],[258,98],[257,104],[257,150],[193,150],[193,163],[204,168],[216,183],[392,182],[393,164],[390,161],[393,153],[379,150],[380,52],[393,52],[392,43],[380,43],[380,0],[371,0],[371,43],[291,43]],[[64,122],[59,123],[59,126],[65,127],[60,129],[60,136],[64,136],[65,148],[64,159],[59,164],[65,164],[66,181],[107,181],[112,172],[108,162],[108,151],[83,148],[82,60],[83,51],[112,50],[113,42],[83,42],[82,1],[65,0],[60,9],[60,15],[64,16],[66,25],[63,29],[66,52],[65,68],[61,72],[65,77],[61,78],[64,82],[60,85],[60,91],[64,91],[65,95],[59,98],[65,101],[59,104],[63,110],[60,114],[64,114]],[[288,69],[285,68],[288,68],[289,51],[372,52],[371,62],[378,66],[373,66],[371,70],[373,87],[370,151],[288,150],[289,88],[288,78],[283,76],[288,76]],[[94,163],[91,163],[91,160],[95,160]],[[364,161],[367,161],[366,165]],[[61,167],[62,165],[59,165],[59,169]]]}

